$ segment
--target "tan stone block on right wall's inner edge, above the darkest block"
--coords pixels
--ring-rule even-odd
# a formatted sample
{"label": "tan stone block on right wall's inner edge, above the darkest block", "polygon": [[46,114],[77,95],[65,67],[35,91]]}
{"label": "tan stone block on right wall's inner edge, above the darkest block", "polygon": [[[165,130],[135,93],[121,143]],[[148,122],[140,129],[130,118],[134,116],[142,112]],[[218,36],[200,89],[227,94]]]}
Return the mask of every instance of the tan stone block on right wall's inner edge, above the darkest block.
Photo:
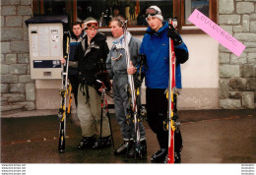
{"label": "tan stone block on right wall's inner edge, above the darkest block", "polygon": [[220,65],[220,77],[240,77],[239,65]]}

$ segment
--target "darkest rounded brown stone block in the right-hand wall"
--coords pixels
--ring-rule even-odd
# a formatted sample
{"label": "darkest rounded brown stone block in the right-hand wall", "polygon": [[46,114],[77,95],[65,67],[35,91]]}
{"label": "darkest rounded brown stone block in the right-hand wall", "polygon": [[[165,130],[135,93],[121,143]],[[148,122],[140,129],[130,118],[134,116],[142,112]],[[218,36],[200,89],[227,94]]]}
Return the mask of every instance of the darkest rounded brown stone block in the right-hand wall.
{"label": "darkest rounded brown stone block in the right-hand wall", "polygon": [[250,88],[250,82],[247,79],[232,78],[228,83],[230,91],[244,91]]}

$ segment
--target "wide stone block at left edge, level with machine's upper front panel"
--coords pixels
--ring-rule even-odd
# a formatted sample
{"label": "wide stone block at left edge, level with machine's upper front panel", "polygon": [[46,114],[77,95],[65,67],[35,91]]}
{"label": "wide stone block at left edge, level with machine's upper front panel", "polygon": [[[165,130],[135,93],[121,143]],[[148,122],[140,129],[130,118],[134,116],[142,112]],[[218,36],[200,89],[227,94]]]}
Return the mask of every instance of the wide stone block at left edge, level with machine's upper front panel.
{"label": "wide stone block at left edge, level with machine's upper front panel", "polygon": [[22,28],[2,28],[1,40],[21,40],[23,39]]}

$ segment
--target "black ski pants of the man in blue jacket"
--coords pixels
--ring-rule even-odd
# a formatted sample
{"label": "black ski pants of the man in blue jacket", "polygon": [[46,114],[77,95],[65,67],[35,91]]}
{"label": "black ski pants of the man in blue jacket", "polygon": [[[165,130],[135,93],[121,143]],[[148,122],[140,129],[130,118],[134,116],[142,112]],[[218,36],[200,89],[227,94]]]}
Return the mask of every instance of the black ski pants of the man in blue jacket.
{"label": "black ski pants of the man in blue jacket", "polygon": [[150,128],[157,134],[160,148],[168,147],[168,131],[163,130],[167,117],[168,100],[163,88],[146,89],[147,118]]}

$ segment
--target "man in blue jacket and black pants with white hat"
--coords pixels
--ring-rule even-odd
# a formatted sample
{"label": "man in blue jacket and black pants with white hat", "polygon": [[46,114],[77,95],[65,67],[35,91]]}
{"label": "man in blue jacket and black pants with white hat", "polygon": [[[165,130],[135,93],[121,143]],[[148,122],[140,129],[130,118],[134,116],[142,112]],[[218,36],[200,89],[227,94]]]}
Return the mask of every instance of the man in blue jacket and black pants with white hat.
{"label": "man in blue jacket and black pants with white hat", "polygon": [[[180,64],[188,60],[188,50],[180,35],[173,28],[169,28],[163,21],[160,8],[151,6],[146,10],[146,20],[149,24],[144,35],[140,54],[146,56],[145,83],[148,123],[157,134],[160,150],[152,155],[153,162],[164,163],[167,160],[168,131],[163,130],[163,121],[167,117],[168,100],[164,94],[169,81],[169,38],[173,40],[176,55],[176,87],[181,88]],[[177,159],[180,158],[182,139],[179,133]],[[176,136],[175,136],[176,139]],[[175,140],[178,141],[178,140]]]}

